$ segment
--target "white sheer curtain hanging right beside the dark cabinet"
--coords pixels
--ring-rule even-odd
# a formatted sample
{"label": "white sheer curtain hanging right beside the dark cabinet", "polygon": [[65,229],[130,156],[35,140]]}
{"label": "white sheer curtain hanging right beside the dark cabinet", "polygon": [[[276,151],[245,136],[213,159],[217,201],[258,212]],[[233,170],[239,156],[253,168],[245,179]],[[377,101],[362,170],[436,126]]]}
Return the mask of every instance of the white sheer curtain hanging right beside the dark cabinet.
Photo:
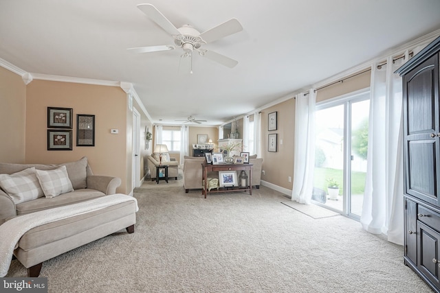
{"label": "white sheer curtain hanging right beside the dark cabinet", "polygon": [[404,244],[404,183],[402,142],[402,80],[393,73],[408,60],[371,69],[369,145],[364,203],[360,222],[366,231],[385,233]]}

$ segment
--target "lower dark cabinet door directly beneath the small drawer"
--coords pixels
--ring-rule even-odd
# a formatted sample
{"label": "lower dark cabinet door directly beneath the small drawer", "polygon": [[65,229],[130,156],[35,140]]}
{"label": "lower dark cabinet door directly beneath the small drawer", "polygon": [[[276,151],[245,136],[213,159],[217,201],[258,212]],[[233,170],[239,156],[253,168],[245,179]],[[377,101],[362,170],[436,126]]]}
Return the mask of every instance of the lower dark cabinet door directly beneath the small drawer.
{"label": "lower dark cabinet door directly beneath the small drawer", "polygon": [[417,257],[417,267],[434,284],[439,286],[439,239],[440,234],[417,221],[417,245],[419,253]]}

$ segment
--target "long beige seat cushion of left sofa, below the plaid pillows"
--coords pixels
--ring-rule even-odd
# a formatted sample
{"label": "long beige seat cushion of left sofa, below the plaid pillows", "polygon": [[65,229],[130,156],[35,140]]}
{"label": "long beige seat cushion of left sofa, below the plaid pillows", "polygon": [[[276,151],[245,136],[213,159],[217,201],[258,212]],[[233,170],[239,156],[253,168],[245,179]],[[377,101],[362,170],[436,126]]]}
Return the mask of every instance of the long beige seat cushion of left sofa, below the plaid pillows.
{"label": "long beige seat cushion of left sofa, below the plaid pillows", "polygon": [[34,211],[42,211],[43,209],[50,209],[53,207],[61,207],[76,202],[83,202],[85,200],[91,200],[92,198],[99,198],[100,196],[105,196],[105,194],[95,189],[77,189],[54,198],[37,198],[36,200],[17,204],[17,215],[24,215],[25,213],[33,213]]}

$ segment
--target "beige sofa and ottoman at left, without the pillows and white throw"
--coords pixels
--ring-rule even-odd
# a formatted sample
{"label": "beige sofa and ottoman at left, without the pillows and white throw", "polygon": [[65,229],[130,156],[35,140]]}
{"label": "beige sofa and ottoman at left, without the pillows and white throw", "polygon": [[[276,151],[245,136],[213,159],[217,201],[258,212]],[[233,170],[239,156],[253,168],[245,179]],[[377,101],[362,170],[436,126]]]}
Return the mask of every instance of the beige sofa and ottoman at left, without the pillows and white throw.
{"label": "beige sofa and ottoman at left, without the pillows and white throw", "polygon": [[[54,170],[59,167],[63,169],[62,166],[65,166],[74,190],[52,198],[47,198],[46,194],[33,199],[23,198],[20,194],[17,196],[5,185],[5,180],[12,176],[0,176],[0,224],[35,211],[115,194],[116,188],[121,183],[120,178],[94,175],[87,158],[59,165],[0,163],[0,174],[23,173],[23,170],[32,167],[37,170]],[[41,188],[46,191],[43,185]],[[134,201],[122,202],[97,211],[36,226],[21,237],[14,249],[14,257],[28,268],[28,277],[38,277],[42,263],[47,259],[124,228],[127,232],[133,233],[136,208]]]}

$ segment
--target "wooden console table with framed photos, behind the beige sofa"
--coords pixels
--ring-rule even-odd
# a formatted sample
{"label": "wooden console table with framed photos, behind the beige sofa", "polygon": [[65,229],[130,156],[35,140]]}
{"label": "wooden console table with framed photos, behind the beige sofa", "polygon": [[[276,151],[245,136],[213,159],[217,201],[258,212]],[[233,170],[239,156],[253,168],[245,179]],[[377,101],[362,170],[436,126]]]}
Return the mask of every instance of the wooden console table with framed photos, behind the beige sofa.
{"label": "wooden console table with framed photos, behind the beige sofa", "polygon": [[[252,196],[252,164],[219,164],[219,165],[211,165],[207,163],[201,164],[202,168],[202,178],[203,182],[205,183],[204,188],[202,189],[202,194],[206,198],[206,194],[212,192],[231,192],[231,191],[249,191],[249,194]],[[241,171],[241,170],[249,170],[249,181],[248,186],[246,188],[236,188],[236,187],[230,187],[231,189],[225,187],[224,189],[212,189],[208,191],[208,180],[206,178],[208,177],[208,172],[212,171]],[[239,174],[237,174],[239,176]],[[239,181],[239,180],[237,180]]]}

